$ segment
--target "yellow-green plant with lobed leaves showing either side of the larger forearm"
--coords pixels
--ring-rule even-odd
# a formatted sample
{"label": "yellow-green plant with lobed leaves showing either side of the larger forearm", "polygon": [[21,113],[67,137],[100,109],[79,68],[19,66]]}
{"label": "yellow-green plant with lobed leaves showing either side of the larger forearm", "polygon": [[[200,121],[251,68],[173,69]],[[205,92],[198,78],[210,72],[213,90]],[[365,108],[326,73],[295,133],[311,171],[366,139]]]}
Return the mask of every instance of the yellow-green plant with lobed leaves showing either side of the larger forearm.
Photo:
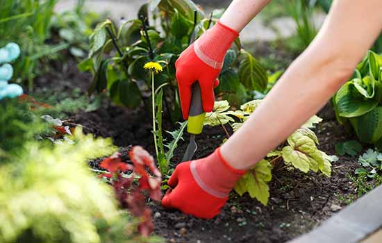
{"label": "yellow-green plant with lobed leaves showing either side of the larger forearm", "polygon": [[[261,100],[249,101],[240,106],[240,110],[233,111],[229,110],[228,101],[217,101],[213,112],[207,113],[205,125],[224,126],[229,124],[233,131],[238,131],[260,102]],[[240,195],[248,192],[252,198],[256,198],[266,205],[269,199],[267,183],[272,180],[272,169],[281,165],[285,165],[289,169],[299,169],[304,173],[314,171],[331,176],[331,162],[336,158],[328,156],[317,148],[319,144],[317,136],[310,130],[320,121],[322,119],[317,116],[306,121],[301,128],[288,137],[287,141],[249,169],[236,183],[235,192]]]}

